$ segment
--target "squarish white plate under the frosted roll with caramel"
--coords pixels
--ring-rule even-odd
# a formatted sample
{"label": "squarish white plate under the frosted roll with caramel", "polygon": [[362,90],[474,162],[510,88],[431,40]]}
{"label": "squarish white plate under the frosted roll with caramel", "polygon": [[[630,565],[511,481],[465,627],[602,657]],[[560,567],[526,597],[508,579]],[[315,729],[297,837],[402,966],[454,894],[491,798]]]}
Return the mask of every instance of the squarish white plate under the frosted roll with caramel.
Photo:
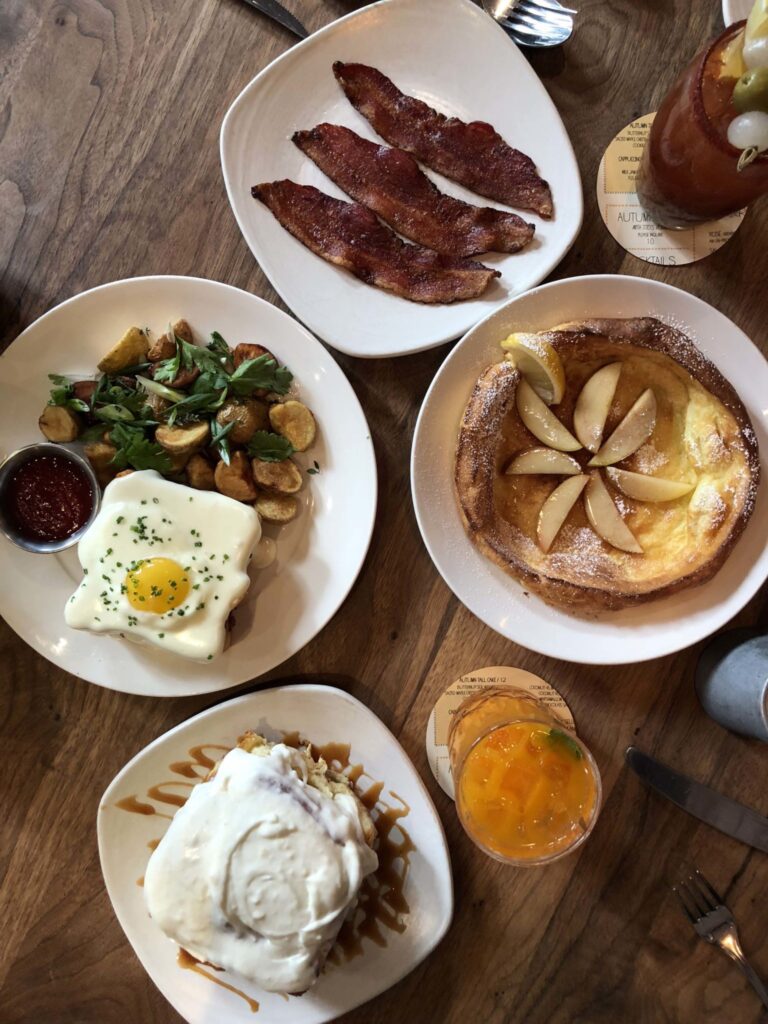
{"label": "squarish white plate under the frosted roll with caramel", "polygon": [[[380,947],[364,940],[364,954],[334,968],[300,997],[284,999],[262,992],[237,976],[223,978],[258,999],[257,1017],[239,996],[226,992],[176,964],[176,946],[153,924],[144,905],[142,878],[150,857],[147,843],[165,830],[165,819],[130,814],[116,802],[128,796],[146,799],[146,790],[171,777],[172,761],[187,758],[202,743],[233,745],[249,728],[280,738],[299,731],[317,743],[351,742],[352,762],[384,780],[386,801],[393,790],[411,807],[402,819],[416,846],[406,881],[410,904],[406,930],[387,935]],[[394,803],[394,801],[393,801]],[[168,810],[158,805],[161,810]],[[443,937],[453,915],[454,895],[445,837],[429,795],[394,736],[354,697],[329,686],[294,685],[249,693],[196,715],[146,746],[111,783],[98,811],[98,851],[106,890],[118,921],[146,973],[189,1024],[321,1024],[354,1009],[399,981]]]}

